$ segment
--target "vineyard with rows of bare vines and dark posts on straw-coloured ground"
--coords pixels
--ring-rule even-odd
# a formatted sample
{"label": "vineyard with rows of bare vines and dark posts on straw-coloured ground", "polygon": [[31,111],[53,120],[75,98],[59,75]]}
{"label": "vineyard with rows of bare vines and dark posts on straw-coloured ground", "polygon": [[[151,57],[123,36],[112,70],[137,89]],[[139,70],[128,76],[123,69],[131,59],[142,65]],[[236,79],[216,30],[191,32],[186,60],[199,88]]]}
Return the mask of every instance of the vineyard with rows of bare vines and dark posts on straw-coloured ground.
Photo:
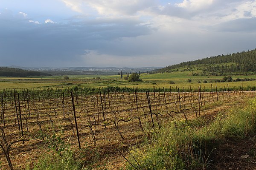
{"label": "vineyard with rows of bare vines and dark posts on straw-coloured ground", "polygon": [[27,163],[33,166],[40,148],[61,154],[64,143],[71,144],[77,155],[83,150],[82,161],[93,164],[97,154],[119,154],[140,142],[147,129],[198,117],[207,106],[242,95],[243,91],[228,88],[217,91],[217,86],[210,92],[200,86],[198,91],[170,87],[146,92],[134,88],[126,93],[81,87],[4,90],[0,96],[1,166],[11,170]]}

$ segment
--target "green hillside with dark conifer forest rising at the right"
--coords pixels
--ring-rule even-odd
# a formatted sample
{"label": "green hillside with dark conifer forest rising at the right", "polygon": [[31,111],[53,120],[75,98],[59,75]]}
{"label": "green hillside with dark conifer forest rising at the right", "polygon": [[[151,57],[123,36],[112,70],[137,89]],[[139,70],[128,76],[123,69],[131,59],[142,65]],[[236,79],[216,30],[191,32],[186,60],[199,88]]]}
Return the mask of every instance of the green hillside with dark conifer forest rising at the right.
{"label": "green hillside with dark conifer forest rising at the right", "polygon": [[[256,49],[239,53],[207,57],[195,61],[181,62],[158,70],[172,72],[173,69],[200,65],[204,72],[253,72],[256,71]],[[189,68],[189,67],[187,67]]]}

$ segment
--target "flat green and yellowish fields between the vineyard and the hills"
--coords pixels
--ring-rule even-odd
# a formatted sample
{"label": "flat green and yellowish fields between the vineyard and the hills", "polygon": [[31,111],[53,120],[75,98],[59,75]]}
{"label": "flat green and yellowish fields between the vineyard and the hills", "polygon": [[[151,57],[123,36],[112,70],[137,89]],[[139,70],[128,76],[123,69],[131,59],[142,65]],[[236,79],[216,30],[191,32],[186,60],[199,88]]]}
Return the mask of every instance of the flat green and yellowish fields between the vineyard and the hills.
{"label": "flat green and yellowish fields between the vineyard and the hills", "polygon": [[[124,75],[125,77],[126,75]],[[96,79],[100,77],[100,79]],[[24,78],[11,78],[0,77],[0,89],[4,88],[65,88],[79,85],[81,87],[107,87],[107,86],[119,86],[121,88],[189,88],[198,89],[201,88],[211,89],[211,86],[215,88],[239,88],[241,82],[215,82],[215,80],[221,80],[224,76],[191,76],[191,72],[172,72],[164,74],[141,74],[140,79],[142,82],[128,82],[125,79],[120,79],[120,75],[106,76],[106,75],[69,75],[69,79],[64,79],[64,76],[53,77],[24,77]],[[256,75],[234,75],[233,79],[256,79]],[[191,79],[192,82],[187,82]],[[170,84],[170,81],[175,84]],[[207,81],[207,83],[204,83]],[[199,83],[200,82],[200,83]],[[243,87],[256,86],[256,81],[243,82]],[[250,88],[248,88],[250,89]]]}

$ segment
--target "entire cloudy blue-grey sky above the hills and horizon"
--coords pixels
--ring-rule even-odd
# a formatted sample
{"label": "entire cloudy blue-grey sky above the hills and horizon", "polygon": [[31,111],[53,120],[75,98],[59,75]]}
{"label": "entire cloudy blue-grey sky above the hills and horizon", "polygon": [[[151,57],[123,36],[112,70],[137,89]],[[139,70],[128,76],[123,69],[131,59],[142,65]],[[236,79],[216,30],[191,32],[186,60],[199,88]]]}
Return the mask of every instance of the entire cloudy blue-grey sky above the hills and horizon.
{"label": "entire cloudy blue-grey sky above the hills and horizon", "polygon": [[0,0],[0,66],[165,67],[256,48],[256,0]]}

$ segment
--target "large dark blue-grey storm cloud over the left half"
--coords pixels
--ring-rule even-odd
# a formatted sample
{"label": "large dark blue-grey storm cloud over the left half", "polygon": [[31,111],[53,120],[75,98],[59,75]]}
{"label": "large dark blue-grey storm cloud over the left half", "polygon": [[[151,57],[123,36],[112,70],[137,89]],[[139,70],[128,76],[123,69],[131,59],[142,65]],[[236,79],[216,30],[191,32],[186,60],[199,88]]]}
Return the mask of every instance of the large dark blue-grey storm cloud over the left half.
{"label": "large dark blue-grey storm cloud over the left half", "polygon": [[118,44],[123,37],[151,32],[149,26],[128,18],[35,24],[29,23],[29,18],[20,19],[3,12],[0,14],[0,26],[1,65],[40,66],[51,63],[58,66],[79,59],[76,57],[84,54],[84,49],[111,53],[115,50],[109,49],[114,48],[109,45],[111,41]]}

